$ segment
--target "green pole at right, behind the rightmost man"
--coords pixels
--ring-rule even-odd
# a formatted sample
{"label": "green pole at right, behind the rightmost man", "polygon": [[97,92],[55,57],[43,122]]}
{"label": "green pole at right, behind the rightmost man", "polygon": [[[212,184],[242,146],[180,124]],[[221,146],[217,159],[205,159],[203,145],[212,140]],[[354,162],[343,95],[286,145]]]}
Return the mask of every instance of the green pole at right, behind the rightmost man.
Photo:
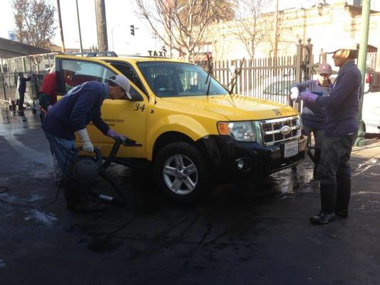
{"label": "green pole at right, behind the rightmost man", "polygon": [[363,113],[363,101],[364,101],[364,84],[366,81],[366,51],[368,46],[368,30],[369,30],[369,14],[371,9],[371,0],[361,1],[361,39],[359,45],[359,56],[358,56],[358,68],[361,72],[361,91],[360,91],[360,104],[359,104],[359,114],[358,114],[358,138],[356,139],[355,145],[364,145],[364,135],[366,135],[364,121],[361,120]]}

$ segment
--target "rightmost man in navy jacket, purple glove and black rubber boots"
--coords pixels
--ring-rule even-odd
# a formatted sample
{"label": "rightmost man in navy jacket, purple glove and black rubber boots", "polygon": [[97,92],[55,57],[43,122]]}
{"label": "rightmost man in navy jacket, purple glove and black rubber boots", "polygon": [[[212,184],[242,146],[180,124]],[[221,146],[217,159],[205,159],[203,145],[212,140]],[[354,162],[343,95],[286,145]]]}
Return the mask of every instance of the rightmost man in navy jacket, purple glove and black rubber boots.
{"label": "rightmost man in navy jacket, purple glove and black rubber boots", "polygon": [[356,43],[337,41],[330,50],[339,73],[329,96],[303,92],[304,102],[326,108],[327,125],[324,133],[321,161],[317,168],[320,181],[321,212],[311,218],[313,224],[327,224],[335,216],[348,217],[351,196],[351,167],[349,157],[356,139],[359,113],[361,73],[354,63],[357,57]]}

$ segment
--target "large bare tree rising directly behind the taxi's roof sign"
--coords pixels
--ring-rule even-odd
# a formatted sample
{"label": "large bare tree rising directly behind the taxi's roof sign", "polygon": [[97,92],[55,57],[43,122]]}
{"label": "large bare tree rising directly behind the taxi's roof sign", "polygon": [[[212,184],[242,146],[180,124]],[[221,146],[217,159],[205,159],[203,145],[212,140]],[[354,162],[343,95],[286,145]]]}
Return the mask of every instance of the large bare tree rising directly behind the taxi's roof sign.
{"label": "large bare tree rising directly behind the taxi's roof sign", "polygon": [[153,33],[188,61],[194,61],[207,26],[235,16],[228,0],[135,0],[135,3],[136,13],[148,21]]}

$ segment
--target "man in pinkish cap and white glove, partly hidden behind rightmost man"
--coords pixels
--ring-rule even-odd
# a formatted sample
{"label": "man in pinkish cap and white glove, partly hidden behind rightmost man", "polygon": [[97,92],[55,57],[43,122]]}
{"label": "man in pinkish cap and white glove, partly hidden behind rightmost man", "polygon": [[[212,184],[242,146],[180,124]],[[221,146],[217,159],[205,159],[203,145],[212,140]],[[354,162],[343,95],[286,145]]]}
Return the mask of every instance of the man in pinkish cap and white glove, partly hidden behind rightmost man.
{"label": "man in pinkish cap and white glove, partly hidden behind rightmost man", "polygon": [[[292,94],[290,98],[297,100],[299,93],[309,90],[312,93],[317,93],[321,96],[328,96],[332,90],[332,82],[330,76],[332,74],[332,67],[329,63],[321,63],[318,66],[317,80],[302,81],[294,83],[290,86]],[[315,104],[304,103],[302,108],[302,134],[309,136],[311,133],[314,135],[314,177],[316,175],[317,166],[321,159],[322,144],[324,140],[324,128],[326,127],[326,110],[324,108],[317,108]]]}

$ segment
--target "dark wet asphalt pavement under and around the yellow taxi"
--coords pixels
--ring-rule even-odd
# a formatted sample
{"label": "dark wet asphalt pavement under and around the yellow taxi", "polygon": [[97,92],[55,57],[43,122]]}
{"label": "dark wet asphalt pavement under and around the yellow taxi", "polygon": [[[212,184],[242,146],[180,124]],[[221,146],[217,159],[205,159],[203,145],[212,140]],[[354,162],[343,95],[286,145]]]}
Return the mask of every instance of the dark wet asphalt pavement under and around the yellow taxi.
{"label": "dark wet asphalt pavement under and around the yellow taxi", "polygon": [[48,143],[30,110],[0,108],[0,284],[380,284],[379,160],[352,157],[350,216],[324,226],[309,160],[192,207],[112,165],[127,209],[68,212],[62,192],[38,209],[57,192]]}

